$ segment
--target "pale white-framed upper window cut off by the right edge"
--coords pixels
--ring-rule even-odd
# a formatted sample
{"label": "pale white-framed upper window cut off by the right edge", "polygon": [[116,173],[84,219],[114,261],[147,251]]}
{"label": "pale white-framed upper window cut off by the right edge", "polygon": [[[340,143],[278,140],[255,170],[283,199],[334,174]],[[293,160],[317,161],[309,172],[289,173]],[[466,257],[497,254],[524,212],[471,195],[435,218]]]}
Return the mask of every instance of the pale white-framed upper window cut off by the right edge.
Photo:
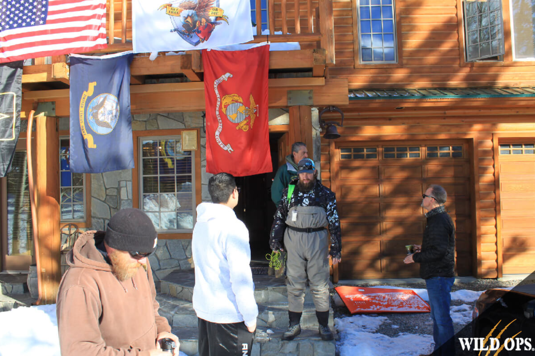
{"label": "pale white-framed upper window cut off by the right edge", "polygon": [[535,0],[510,0],[513,58],[535,60]]}

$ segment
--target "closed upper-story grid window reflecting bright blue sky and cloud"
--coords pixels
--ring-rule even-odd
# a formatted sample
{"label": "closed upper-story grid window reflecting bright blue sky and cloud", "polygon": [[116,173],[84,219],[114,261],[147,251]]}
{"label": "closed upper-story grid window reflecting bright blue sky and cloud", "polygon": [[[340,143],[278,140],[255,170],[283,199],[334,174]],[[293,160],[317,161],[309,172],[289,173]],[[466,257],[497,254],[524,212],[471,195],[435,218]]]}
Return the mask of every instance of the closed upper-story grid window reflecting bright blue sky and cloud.
{"label": "closed upper-story grid window reflecting bright blue sky and cloud", "polygon": [[360,63],[397,63],[394,0],[357,0]]}

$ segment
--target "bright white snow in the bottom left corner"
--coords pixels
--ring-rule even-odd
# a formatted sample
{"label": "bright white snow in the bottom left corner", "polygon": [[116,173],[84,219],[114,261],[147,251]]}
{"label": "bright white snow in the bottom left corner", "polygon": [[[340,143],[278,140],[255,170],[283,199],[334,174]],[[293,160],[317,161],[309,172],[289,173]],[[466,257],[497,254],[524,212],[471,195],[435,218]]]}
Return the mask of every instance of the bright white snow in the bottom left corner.
{"label": "bright white snow in the bottom left corner", "polygon": [[35,355],[60,356],[55,304],[0,313],[0,356]]}

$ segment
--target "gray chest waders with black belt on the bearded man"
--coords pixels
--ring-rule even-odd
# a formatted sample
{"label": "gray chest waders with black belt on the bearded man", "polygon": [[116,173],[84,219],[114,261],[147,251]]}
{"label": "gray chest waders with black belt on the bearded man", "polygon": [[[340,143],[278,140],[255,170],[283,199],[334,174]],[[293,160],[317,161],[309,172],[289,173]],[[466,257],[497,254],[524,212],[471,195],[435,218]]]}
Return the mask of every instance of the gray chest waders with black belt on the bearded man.
{"label": "gray chest waders with black belt on the bearded man", "polygon": [[302,312],[307,281],[318,312],[329,310],[327,215],[322,207],[292,207],[286,217],[284,245],[288,310]]}

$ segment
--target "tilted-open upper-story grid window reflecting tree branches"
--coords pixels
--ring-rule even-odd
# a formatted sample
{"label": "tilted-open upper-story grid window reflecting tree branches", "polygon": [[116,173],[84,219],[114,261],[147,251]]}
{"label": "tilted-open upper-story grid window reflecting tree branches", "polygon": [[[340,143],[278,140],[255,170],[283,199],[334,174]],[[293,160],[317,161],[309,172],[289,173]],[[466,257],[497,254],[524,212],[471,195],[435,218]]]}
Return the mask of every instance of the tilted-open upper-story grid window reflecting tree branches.
{"label": "tilted-open upper-story grid window reflecting tree branches", "polygon": [[464,35],[467,61],[505,54],[501,0],[464,0]]}

